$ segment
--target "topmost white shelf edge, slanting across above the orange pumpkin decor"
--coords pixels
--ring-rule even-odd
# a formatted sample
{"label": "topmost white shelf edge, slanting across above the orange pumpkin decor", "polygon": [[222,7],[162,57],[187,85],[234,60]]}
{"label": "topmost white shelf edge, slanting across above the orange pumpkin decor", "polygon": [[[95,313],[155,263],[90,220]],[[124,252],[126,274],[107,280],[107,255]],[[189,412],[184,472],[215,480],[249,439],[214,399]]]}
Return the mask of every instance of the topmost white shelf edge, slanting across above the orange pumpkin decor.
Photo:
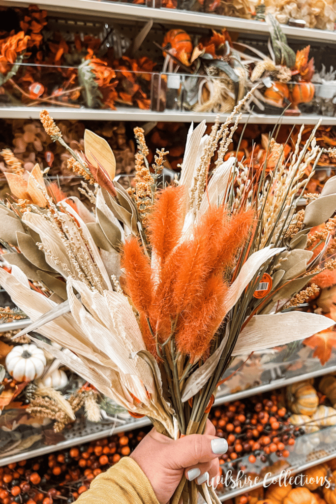
{"label": "topmost white shelf edge, slanting across above the orange pumpkin decor", "polygon": [[[6,5],[6,7],[25,7],[29,4],[30,2],[22,2],[21,0],[0,1],[0,5]],[[67,0],[66,3],[60,5],[57,0],[40,0],[38,6],[47,8],[51,12],[68,12],[70,14],[91,16],[94,14],[95,19],[100,17],[106,21],[109,18],[137,19],[137,21],[152,19],[154,22],[166,24],[202,26],[215,29],[226,27],[233,31],[268,33],[267,24],[260,21],[218,16],[216,14],[180,11],[177,9],[153,9],[127,3],[100,2],[98,0]],[[282,29],[290,38],[336,44],[336,32],[311,28],[296,28],[288,25],[282,25]]]}

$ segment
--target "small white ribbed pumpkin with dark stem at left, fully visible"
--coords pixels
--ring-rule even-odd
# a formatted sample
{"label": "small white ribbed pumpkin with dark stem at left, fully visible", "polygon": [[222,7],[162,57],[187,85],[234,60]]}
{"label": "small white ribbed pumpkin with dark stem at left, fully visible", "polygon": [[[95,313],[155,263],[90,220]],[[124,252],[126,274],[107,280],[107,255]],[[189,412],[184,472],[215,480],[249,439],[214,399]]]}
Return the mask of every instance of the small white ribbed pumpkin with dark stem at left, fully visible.
{"label": "small white ribbed pumpkin with dark stem at left, fully visible", "polygon": [[7,371],[18,382],[28,382],[42,376],[46,366],[43,350],[34,343],[15,346],[7,355]]}

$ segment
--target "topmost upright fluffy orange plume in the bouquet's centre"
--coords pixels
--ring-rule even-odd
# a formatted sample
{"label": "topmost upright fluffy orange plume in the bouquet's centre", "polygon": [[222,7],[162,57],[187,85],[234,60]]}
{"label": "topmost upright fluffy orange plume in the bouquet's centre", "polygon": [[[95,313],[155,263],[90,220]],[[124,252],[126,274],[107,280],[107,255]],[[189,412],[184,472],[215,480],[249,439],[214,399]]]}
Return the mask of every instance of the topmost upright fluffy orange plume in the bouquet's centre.
{"label": "topmost upright fluffy orange plume in the bouquet's centre", "polygon": [[161,191],[149,219],[150,242],[161,263],[164,263],[181,236],[184,193],[183,186],[170,186]]}

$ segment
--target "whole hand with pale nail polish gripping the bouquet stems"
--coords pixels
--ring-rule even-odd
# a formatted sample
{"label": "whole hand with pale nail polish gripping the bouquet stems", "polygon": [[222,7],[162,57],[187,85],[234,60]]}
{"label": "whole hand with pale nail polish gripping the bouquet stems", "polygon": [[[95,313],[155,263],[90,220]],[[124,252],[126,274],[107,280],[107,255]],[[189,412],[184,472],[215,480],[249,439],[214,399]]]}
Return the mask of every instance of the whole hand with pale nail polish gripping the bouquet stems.
{"label": "whole hand with pale nail polish gripping the bouquet stems", "polygon": [[215,426],[207,420],[204,434],[170,439],[153,428],[131,453],[152,485],[160,504],[167,504],[183,473],[197,484],[219,474],[219,456],[228,449],[225,439],[215,436]]}

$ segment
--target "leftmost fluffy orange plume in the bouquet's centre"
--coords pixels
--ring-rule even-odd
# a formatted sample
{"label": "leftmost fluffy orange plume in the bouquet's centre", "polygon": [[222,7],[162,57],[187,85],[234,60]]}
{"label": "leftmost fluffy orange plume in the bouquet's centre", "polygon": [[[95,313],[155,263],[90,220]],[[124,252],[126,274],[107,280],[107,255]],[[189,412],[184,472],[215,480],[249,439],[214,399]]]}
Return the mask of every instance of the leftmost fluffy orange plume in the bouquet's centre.
{"label": "leftmost fluffy orange plume in the bouquet's centre", "polygon": [[148,316],[153,295],[152,270],[150,261],[135,236],[130,237],[124,244],[121,266],[126,272],[126,290],[129,297],[137,310]]}

